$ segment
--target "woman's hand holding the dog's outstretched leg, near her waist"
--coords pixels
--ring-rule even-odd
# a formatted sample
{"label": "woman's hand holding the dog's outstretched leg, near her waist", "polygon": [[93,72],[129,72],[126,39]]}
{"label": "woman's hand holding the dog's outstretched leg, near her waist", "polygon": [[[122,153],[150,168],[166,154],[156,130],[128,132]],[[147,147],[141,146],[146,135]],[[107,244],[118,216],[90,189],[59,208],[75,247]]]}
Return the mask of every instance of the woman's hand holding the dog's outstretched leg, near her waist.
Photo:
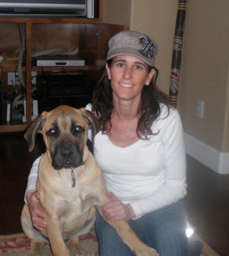
{"label": "woman's hand holding the dog's outstretched leg, near her waist", "polygon": [[107,192],[107,195],[112,201],[106,203],[102,207],[102,218],[106,221],[129,221],[135,217],[135,212],[130,204],[123,204],[118,198],[115,197],[113,192]]}

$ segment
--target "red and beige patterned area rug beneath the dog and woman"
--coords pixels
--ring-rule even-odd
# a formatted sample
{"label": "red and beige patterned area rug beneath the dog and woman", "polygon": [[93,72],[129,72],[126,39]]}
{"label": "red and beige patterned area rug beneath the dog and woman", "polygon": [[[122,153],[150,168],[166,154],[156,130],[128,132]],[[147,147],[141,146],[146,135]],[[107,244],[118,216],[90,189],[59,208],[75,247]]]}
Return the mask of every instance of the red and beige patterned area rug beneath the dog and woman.
{"label": "red and beige patterned area rug beneath the dog and woman", "polygon": [[[192,241],[199,240],[204,244],[201,256],[219,256],[208,244],[206,244],[197,234],[193,234]],[[98,245],[95,230],[91,230],[80,239],[82,246],[98,256]],[[30,240],[23,233],[9,236],[0,236],[0,255],[1,256],[25,256],[30,248]],[[73,254],[71,254],[73,255]],[[45,244],[42,256],[52,256],[50,247]]]}

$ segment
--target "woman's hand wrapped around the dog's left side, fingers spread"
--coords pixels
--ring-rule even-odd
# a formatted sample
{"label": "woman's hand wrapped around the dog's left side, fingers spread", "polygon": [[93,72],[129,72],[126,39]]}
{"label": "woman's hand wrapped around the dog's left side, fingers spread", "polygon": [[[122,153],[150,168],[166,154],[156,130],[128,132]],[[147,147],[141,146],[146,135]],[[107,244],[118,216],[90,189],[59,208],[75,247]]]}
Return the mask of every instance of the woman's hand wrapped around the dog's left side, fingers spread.
{"label": "woman's hand wrapped around the dog's left side, fingers spread", "polygon": [[47,222],[43,220],[46,218],[45,212],[39,207],[40,194],[33,189],[30,189],[26,192],[26,200],[34,227],[37,230],[42,231],[42,229],[46,227]]}

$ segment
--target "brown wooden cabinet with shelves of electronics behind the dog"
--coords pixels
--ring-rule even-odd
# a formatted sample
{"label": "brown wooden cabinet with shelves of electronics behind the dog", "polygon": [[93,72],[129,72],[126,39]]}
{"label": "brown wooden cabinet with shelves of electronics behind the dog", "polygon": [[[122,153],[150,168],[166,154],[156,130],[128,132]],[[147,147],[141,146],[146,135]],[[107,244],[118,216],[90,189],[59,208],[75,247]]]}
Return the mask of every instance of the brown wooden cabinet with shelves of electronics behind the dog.
{"label": "brown wooden cabinet with shelves of electronics behind the dog", "polygon": [[[25,65],[22,67],[26,89],[27,121],[21,120],[3,122],[0,132],[24,131],[31,123],[31,71],[51,72],[61,71],[62,67],[37,67],[31,65],[31,53],[56,47],[78,47],[78,55],[85,59],[83,67],[64,67],[65,71],[82,71],[90,73],[93,79],[98,79],[99,71],[105,61],[107,42],[112,35],[126,30],[125,26],[103,23],[103,0],[97,0],[99,17],[80,18],[31,18],[31,17],[0,17],[0,55],[13,55],[21,47],[22,31],[25,28]],[[8,72],[15,72],[17,67],[1,68],[1,94],[10,93],[13,86],[8,85]],[[21,89],[18,88],[19,93]]]}

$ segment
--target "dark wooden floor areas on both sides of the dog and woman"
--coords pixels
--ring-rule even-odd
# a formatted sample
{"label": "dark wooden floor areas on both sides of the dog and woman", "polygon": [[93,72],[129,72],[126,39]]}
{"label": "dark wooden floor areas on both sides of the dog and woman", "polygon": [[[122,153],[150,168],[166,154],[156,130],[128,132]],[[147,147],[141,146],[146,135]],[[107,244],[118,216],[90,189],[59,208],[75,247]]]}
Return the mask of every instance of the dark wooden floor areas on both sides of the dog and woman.
{"label": "dark wooden floor areas on both sides of the dog and woman", "polygon": [[[44,150],[41,137],[28,153],[23,133],[0,133],[0,235],[22,232],[28,172]],[[229,175],[218,175],[187,155],[187,183],[183,201],[189,221],[220,256],[229,256]]]}

